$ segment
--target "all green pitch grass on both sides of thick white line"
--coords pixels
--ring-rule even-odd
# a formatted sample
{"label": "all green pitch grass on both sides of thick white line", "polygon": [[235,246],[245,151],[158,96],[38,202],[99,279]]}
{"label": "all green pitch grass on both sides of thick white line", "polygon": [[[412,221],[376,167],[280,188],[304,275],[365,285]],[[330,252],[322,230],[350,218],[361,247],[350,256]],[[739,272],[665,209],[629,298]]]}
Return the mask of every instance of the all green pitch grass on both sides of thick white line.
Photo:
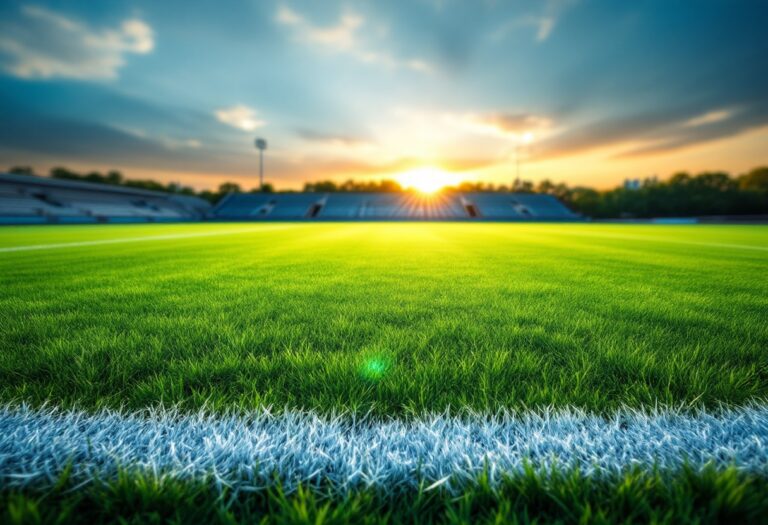
{"label": "all green pitch grass on both sides of thick white line", "polygon": [[[622,407],[763,406],[767,276],[765,226],[5,227],[0,403],[87,413],[270,406],[376,421],[447,410],[610,416]],[[0,450],[0,474],[2,462]],[[458,494],[422,486],[341,495],[323,485],[284,492],[281,483],[231,492],[133,467],[86,485],[68,467],[52,486],[0,483],[0,521],[760,523],[768,515],[768,473],[736,465],[638,466],[607,477],[532,467],[493,486],[480,475]]]}

